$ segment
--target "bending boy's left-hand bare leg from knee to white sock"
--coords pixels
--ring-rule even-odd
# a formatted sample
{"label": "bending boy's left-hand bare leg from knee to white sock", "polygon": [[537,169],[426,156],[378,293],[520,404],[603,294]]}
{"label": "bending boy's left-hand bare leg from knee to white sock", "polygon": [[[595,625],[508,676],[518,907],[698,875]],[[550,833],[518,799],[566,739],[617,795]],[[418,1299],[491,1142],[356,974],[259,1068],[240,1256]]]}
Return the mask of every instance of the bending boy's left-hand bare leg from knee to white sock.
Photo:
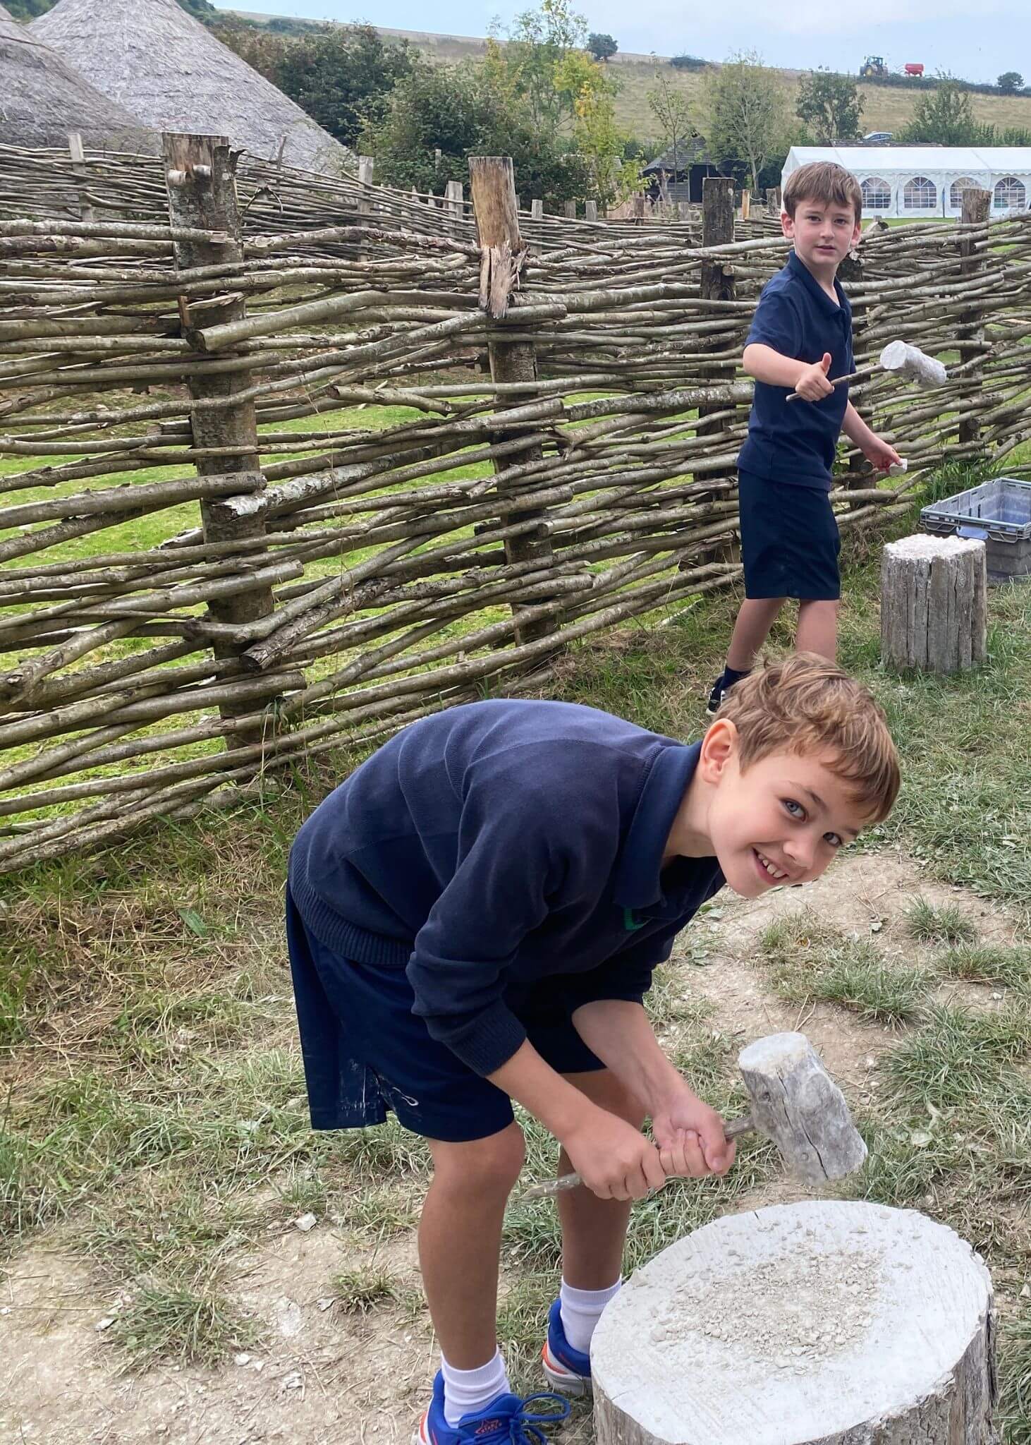
{"label": "bending boy's left-hand bare leg from knee to white sock", "polygon": [[501,1220],[523,1168],[523,1130],[510,1124],[487,1139],[432,1139],[429,1146],[433,1182],[419,1221],[423,1287],[445,1360],[478,1370],[497,1350]]}

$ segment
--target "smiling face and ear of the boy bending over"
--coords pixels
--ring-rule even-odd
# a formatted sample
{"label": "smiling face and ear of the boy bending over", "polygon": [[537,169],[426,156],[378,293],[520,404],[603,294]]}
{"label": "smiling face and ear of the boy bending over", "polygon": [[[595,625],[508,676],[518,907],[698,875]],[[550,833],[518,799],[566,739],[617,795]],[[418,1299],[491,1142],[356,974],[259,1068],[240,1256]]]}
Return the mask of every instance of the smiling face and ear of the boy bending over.
{"label": "smiling face and ear of the boy bending over", "polygon": [[712,853],[742,897],[819,879],[869,821],[826,757],[768,753],[742,770],[729,722],[709,728],[697,776]]}

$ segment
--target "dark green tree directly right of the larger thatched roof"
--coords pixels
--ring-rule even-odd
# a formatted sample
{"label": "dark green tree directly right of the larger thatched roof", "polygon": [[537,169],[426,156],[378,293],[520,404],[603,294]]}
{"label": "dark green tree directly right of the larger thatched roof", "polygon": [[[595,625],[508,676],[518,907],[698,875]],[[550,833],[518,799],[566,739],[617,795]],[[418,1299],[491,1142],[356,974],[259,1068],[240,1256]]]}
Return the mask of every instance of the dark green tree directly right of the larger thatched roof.
{"label": "dark green tree directly right of the larger thatched roof", "polygon": [[331,136],[354,146],[362,126],[383,118],[412,64],[407,43],[384,42],[374,26],[334,25],[280,42],[269,78]]}

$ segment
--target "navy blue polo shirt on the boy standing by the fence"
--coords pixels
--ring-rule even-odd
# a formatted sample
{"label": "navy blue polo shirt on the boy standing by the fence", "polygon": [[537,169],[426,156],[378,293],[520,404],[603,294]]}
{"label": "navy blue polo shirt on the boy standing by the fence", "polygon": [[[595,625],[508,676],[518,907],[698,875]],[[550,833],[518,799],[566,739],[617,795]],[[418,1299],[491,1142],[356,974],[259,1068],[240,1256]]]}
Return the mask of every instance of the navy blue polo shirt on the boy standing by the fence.
{"label": "navy blue polo shirt on the boy standing by the fence", "polygon": [[[852,364],[852,306],[835,277],[838,303],[794,251],[787,266],[767,283],[745,345],[760,342],[799,361],[820,361],[830,353],[830,380],[849,376]],[[838,438],[849,403],[848,384],[822,402],[791,402],[791,389],[755,383],[748,439],[738,467],[765,481],[830,491]]]}

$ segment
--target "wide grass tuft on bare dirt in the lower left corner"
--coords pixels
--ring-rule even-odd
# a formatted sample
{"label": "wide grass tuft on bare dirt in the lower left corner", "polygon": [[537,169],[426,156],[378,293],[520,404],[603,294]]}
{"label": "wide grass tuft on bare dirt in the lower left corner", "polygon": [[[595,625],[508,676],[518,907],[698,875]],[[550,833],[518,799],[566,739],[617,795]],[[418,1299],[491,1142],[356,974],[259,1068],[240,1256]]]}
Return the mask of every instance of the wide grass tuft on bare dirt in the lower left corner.
{"label": "wide grass tuft on bare dirt in the lower left corner", "polygon": [[212,1366],[230,1350],[256,1344],[258,1328],[221,1293],[212,1273],[192,1286],[144,1280],[116,1318],[110,1338],[133,1368],[157,1360]]}

